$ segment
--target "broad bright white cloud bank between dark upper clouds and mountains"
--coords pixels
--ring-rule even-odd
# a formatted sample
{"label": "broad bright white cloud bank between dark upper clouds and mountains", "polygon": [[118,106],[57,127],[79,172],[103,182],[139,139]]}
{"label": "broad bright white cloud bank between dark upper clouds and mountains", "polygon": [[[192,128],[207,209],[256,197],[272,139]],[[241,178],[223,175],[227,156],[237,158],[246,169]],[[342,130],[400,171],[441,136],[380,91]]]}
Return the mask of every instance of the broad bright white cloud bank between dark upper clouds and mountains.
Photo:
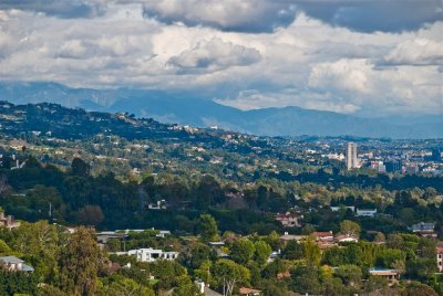
{"label": "broad bright white cloud bank between dark upper clouds and mountains", "polygon": [[[150,3],[156,2],[145,2],[145,11]],[[241,15],[265,13],[262,8],[225,11],[223,6],[216,12],[215,1],[207,6],[213,6],[212,15],[188,8],[181,13],[199,13],[219,28],[237,18],[238,23],[245,21]],[[0,80],[186,91],[244,109],[295,105],[367,114],[439,110],[443,22],[416,32],[359,33],[298,14],[287,27],[251,33],[166,24],[143,15],[142,3],[105,7],[84,19],[0,10]],[[224,24],[224,19],[233,23]]]}

